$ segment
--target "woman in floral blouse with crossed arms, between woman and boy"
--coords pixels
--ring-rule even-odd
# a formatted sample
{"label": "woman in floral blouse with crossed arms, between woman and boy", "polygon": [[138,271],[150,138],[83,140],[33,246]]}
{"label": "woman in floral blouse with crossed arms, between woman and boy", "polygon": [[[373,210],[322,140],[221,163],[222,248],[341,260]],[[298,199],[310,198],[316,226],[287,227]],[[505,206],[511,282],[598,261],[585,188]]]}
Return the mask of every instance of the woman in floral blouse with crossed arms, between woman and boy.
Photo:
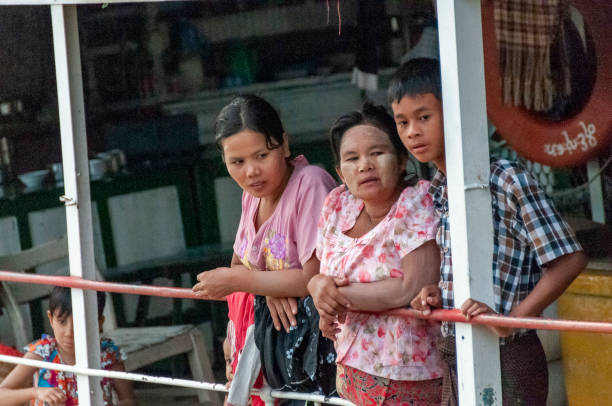
{"label": "woman in floral blouse with crossed arms, between woman and boy", "polygon": [[338,393],[358,405],[439,405],[439,324],[360,312],[406,306],[437,282],[428,182],[405,180],[407,151],[383,107],[340,117],[330,137],[344,185],[325,201],[321,274],[308,288],[321,330],[335,341]]}

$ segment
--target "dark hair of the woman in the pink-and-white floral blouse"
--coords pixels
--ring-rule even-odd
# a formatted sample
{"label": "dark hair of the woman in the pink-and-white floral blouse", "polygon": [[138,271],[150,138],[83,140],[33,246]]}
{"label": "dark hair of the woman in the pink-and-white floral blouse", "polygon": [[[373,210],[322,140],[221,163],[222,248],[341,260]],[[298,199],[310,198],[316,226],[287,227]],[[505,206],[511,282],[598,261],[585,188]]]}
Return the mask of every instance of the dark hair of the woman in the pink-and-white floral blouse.
{"label": "dark hair of the woman in the pink-and-white floral blouse", "polygon": [[397,155],[402,159],[408,158],[408,151],[397,133],[393,117],[387,113],[383,106],[375,106],[366,102],[361,110],[340,116],[329,130],[329,141],[336,166],[340,165],[340,144],[344,134],[351,128],[362,124],[369,124],[383,131],[389,136]]}

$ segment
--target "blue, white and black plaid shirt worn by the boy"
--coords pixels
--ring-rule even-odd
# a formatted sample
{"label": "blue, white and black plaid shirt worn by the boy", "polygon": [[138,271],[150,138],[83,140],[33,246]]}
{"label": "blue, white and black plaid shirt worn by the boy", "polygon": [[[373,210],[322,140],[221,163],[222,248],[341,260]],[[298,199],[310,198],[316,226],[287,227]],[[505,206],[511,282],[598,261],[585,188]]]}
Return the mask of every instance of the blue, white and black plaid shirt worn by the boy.
{"label": "blue, white and black plaid shirt worn by the boy", "polygon": [[[580,251],[582,247],[536,180],[518,163],[491,159],[489,187],[493,211],[495,311],[508,314],[531,293],[548,262]],[[451,233],[446,176],[442,172],[434,176],[429,192],[440,216],[436,240],[442,254],[442,307],[452,309],[455,306]],[[442,323],[442,333],[454,334],[454,325]]]}

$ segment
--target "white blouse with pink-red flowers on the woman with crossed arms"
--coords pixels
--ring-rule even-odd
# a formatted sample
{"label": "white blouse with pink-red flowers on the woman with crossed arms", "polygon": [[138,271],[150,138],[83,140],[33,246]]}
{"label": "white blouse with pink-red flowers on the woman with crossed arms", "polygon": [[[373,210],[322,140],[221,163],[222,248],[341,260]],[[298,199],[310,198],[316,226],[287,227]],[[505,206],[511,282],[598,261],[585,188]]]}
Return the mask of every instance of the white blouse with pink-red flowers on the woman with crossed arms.
{"label": "white blouse with pink-red flowers on the woman with crossed arms", "polygon": [[[438,218],[428,188],[429,182],[420,181],[404,189],[387,216],[359,238],[345,233],[354,227],[363,201],[345,186],[332,190],[318,225],[321,273],[359,283],[402,277],[402,258],[436,236]],[[339,364],[402,381],[442,374],[437,322],[349,312],[340,330],[336,337]]]}

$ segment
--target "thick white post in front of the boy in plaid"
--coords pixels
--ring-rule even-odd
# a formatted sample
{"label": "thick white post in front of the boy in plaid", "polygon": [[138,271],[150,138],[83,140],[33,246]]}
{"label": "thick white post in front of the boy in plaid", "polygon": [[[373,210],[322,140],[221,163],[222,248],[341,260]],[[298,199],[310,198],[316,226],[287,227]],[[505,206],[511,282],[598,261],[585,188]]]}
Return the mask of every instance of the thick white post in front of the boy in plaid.
{"label": "thick white post in front of the boy in plaid", "polygon": [[[455,306],[493,307],[493,223],[479,0],[438,0]],[[459,404],[501,405],[497,337],[457,323]]]}

